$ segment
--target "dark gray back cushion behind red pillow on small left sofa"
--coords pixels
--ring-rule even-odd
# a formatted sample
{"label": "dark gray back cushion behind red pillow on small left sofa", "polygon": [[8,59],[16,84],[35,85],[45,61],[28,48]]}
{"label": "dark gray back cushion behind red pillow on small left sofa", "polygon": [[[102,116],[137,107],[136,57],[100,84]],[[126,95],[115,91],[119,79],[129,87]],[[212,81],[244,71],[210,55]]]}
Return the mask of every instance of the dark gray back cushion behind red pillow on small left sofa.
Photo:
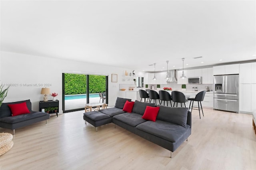
{"label": "dark gray back cushion behind red pillow on small left sofa", "polygon": [[16,102],[10,102],[10,103],[2,103],[1,107],[0,107],[0,117],[8,117],[8,116],[12,116],[12,111],[10,109],[10,107],[8,107],[8,105],[14,105],[14,104],[18,104],[18,103],[23,103],[26,102],[28,110],[31,112],[32,108],[31,108],[31,102],[30,99],[28,100],[24,100],[24,101],[16,101]]}

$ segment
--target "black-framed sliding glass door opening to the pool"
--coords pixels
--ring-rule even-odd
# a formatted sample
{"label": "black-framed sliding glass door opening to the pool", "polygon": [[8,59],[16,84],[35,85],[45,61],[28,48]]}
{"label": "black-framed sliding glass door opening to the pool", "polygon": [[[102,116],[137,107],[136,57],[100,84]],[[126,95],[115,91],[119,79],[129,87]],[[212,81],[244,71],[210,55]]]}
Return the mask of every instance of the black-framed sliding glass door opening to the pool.
{"label": "black-framed sliding glass door opening to the pool", "polygon": [[108,76],[62,73],[63,113],[83,110],[86,103],[108,103],[107,89]]}

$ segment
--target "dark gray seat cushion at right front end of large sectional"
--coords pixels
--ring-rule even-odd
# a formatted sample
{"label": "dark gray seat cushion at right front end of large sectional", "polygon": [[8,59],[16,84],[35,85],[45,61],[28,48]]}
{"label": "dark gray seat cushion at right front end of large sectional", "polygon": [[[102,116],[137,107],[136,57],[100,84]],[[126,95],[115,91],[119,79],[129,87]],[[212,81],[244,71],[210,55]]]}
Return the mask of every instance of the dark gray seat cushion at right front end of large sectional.
{"label": "dark gray seat cushion at right front end of large sectional", "polygon": [[136,128],[148,132],[170,142],[178,142],[180,138],[186,134],[190,126],[182,127],[173,123],[156,120],[156,122],[146,121],[141,123]]}

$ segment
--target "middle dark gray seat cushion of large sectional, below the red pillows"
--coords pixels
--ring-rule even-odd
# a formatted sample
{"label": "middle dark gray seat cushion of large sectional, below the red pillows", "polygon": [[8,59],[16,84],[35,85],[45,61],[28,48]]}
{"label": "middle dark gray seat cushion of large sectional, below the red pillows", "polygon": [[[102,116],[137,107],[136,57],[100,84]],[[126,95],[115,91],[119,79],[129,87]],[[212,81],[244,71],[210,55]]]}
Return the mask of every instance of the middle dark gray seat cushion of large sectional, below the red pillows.
{"label": "middle dark gray seat cushion of large sectional, below the red pillows", "polygon": [[116,115],[113,119],[117,119],[123,123],[126,123],[132,127],[136,127],[140,123],[146,122],[145,119],[141,118],[142,116],[137,113],[123,113],[120,115]]}

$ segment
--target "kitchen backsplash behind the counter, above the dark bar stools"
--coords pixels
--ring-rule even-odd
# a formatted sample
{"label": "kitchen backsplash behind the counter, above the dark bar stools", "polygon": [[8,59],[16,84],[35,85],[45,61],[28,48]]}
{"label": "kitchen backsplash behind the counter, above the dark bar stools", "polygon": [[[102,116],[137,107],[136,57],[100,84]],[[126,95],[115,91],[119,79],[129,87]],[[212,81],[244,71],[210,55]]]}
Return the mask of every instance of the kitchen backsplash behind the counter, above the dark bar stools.
{"label": "kitchen backsplash behind the counter, above the dark bar stools", "polygon": [[[148,89],[151,89],[152,85],[148,85]],[[202,91],[205,90],[205,87],[208,86],[210,90],[213,89],[213,85],[212,84],[186,84],[186,91],[194,91],[193,87],[196,88],[198,91]],[[154,85],[155,89],[156,89],[156,85]],[[177,84],[177,82],[171,82],[168,84],[164,84],[164,85],[160,85],[160,88],[164,88],[164,87],[172,87],[173,90],[181,90],[181,85]]]}

